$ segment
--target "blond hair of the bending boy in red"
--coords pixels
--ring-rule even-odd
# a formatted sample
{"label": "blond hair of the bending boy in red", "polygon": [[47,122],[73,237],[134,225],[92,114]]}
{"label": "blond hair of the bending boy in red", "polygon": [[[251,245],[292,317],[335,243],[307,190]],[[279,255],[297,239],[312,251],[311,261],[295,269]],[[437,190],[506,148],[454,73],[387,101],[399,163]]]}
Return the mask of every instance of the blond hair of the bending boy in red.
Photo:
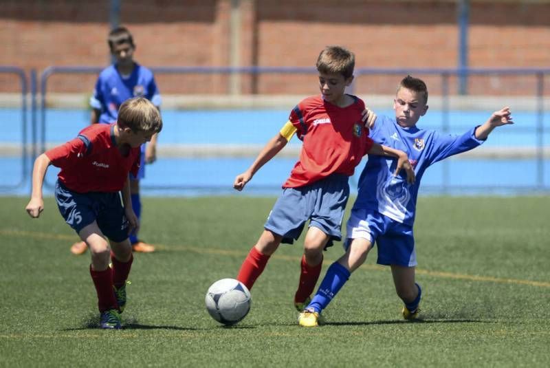
{"label": "blond hair of the bending boy in red", "polygon": [[118,109],[117,124],[132,131],[158,133],[162,130],[160,111],[144,97],[129,98]]}

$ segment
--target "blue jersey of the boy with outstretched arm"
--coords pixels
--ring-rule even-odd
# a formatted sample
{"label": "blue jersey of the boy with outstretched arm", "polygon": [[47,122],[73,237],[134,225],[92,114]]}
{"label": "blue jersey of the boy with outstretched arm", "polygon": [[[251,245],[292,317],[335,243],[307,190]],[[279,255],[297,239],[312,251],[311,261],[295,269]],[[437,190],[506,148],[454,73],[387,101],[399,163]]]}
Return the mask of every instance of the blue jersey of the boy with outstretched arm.
{"label": "blue jersey of the boy with outstretched arm", "polygon": [[478,147],[482,140],[475,137],[475,128],[461,136],[445,135],[417,127],[400,127],[395,118],[379,116],[370,137],[387,147],[407,153],[415,169],[415,184],[408,184],[401,171],[393,176],[397,160],[380,155],[369,155],[358,183],[358,197],[353,209],[365,208],[378,211],[391,219],[412,226],[415,221],[418,189],[422,175],[428,166]]}

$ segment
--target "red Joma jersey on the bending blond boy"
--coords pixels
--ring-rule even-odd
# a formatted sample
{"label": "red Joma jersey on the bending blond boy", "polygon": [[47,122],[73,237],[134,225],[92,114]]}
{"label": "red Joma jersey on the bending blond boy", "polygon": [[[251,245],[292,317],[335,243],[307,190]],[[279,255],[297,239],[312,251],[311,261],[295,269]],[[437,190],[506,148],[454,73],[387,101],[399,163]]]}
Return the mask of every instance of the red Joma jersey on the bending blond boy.
{"label": "red Joma jersey on the bending blond boy", "polygon": [[74,140],[46,151],[54,166],[61,168],[59,180],[71,191],[117,192],[128,173],[140,169],[140,147],[122,155],[115,142],[114,124],[86,127]]}

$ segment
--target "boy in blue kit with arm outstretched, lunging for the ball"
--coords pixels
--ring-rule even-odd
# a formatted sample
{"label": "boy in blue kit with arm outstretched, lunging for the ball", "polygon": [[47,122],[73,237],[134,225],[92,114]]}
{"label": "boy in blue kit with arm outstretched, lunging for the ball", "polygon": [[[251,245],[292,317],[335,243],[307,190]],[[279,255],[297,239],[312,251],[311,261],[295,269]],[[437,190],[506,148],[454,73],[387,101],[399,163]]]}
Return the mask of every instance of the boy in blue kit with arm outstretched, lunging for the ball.
{"label": "boy in blue kit with arm outstretched, lunging for the ball", "polygon": [[[395,118],[380,116],[373,120],[371,138],[380,144],[407,153],[415,169],[416,181],[408,184],[402,175],[393,175],[395,162],[369,155],[358,183],[358,197],[347,223],[345,254],[332,263],[314,299],[300,314],[304,327],[318,325],[322,310],[349,279],[351,272],[364,263],[376,242],[377,263],[391,266],[395,291],[404,302],[403,317],[415,319],[421,299],[420,285],[415,283],[415,221],[417,194],[422,175],[434,162],[478,147],[494,128],[513,124],[508,107],[495,111],[489,119],[459,136],[419,129],[416,124],[428,111],[426,84],[406,76],[393,102]],[[372,113],[372,112],[369,112]]]}

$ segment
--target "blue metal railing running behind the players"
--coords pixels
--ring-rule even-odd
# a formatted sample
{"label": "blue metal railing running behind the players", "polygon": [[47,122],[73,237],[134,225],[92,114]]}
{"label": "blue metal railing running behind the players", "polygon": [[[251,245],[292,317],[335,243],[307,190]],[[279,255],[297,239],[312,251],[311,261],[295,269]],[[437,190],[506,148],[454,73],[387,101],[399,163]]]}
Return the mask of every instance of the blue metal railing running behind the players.
{"label": "blue metal railing running behind the players", "polygon": [[[48,78],[54,74],[98,74],[102,67],[48,67],[45,69],[39,80],[36,80],[36,72],[31,72],[31,95],[32,95],[32,158],[46,149],[46,111],[47,111],[47,85]],[[6,69],[8,70],[8,69]],[[316,74],[314,67],[151,67],[155,74]],[[1,71],[1,69],[0,69]],[[20,74],[22,71],[18,71]],[[459,82],[468,76],[534,76],[536,78],[536,90],[533,96],[536,98],[536,183],[534,188],[539,190],[549,190],[544,183],[544,77],[550,75],[550,69],[543,68],[358,68],[355,69],[355,76],[404,76],[406,74],[439,76],[441,78],[441,129],[443,132],[450,131],[450,78],[456,77]],[[22,89],[27,93],[27,83],[22,74]],[[36,87],[40,87],[40,104],[36,106]],[[459,83],[460,87],[460,83]],[[353,85],[351,86],[353,93]],[[23,101],[23,111],[26,111],[26,102]],[[39,113],[39,124],[36,122],[36,114]],[[25,115],[25,113],[23,113]],[[26,118],[24,118],[23,129],[26,129]],[[39,132],[39,133],[37,133]],[[23,134],[26,139],[26,131]],[[26,147],[26,140],[23,141]],[[23,150],[23,175],[28,174],[26,160],[26,149]],[[441,191],[443,193],[450,189],[450,172],[445,161],[441,163],[442,180]],[[25,179],[23,176],[22,181]],[[176,185],[177,186],[177,185]],[[175,186],[170,186],[175,188]]]}

